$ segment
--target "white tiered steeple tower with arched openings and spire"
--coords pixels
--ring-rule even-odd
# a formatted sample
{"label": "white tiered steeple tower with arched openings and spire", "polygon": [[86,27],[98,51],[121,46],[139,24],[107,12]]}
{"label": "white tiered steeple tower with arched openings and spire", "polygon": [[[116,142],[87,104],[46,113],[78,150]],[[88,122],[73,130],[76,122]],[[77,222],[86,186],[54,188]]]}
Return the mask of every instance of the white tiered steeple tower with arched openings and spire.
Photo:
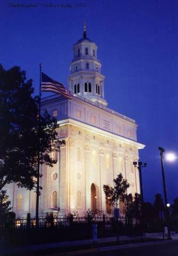
{"label": "white tiered steeple tower with arched openings and spire", "polygon": [[87,37],[84,22],[83,38],[73,46],[74,59],[70,63],[69,90],[83,98],[107,106],[104,100],[104,76],[97,59],[96,44]]}

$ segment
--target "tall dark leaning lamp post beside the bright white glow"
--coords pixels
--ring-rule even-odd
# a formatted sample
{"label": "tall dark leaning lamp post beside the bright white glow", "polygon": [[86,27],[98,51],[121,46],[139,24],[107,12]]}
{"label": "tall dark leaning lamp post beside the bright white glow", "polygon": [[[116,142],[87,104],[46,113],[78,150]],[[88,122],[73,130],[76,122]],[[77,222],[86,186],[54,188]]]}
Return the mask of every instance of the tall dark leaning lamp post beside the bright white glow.
{"label": "tall dark leaning lamp post beside the bright white glow", "polygon": [[171,230],[169,226],[169,206],[167,203],[167,193],[166,193],[166,180],[165,180],[165,174],[164,174],[164,165],[163,165],[163,153],[165,152],[164,148],[158,147],[160,151],[160,160],[161,160],[161,170],[162,170],[162,176],[163,176],[163,189],[164,189],[164,200],[165,200],[165,217],[166,217],[166,224],[167,224],[167,232],[168,232],[168,239],[171,239]]}

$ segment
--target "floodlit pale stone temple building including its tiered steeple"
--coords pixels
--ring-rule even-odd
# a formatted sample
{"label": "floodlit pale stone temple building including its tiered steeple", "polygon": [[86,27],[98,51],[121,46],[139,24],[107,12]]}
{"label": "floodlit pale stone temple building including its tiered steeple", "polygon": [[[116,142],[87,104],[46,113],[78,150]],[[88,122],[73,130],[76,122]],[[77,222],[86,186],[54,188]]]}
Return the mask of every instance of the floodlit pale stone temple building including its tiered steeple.
{"label": "floodlit pale stone temple building including its tiered steeple", "polygon": [[[47,109],[58,119],[59,139],[66,144],[53,153],[57,160],[53,167],[41,166],[39,216],[52,210],[59,215],[74,210],[84,215],[87,209],[109,212],[103,185],[113,186],[120,172],[131,185],[127,193],[140,193],[139,171],[133,162],[144,145],[137,142],[135,121],[107,107],[97,50],[84,27],[83,37],[73,46],[68,76],[71,99],[59,94],[42,99],[42,111]],[[35,190],[8,187],[17,217],[28,212],[34,217]]]}

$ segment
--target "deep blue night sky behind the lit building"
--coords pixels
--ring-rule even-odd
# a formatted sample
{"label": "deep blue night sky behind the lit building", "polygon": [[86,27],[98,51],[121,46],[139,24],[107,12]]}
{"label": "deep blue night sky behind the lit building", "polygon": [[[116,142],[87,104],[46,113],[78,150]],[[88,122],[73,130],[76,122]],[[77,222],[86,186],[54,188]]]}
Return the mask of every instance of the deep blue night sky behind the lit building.
{"label": "deep blue night sky behind the lit building", "polygon": [[[8,7],[37,4],[34,8]],[[40,7],[40,3],[71,4],[71,8]],[[85,3],[86,7],[74,7]],[[38,93],[39,63],[43,71],[67,85],[72,45],[87,35],[98,45],[106,76],[108,107],[139,124],[138,141],[146,145],[140,160],[146,201],[162,193],[158,146],[178,155],[177,0],[6,1],[0,3],[0,62],[18,65],[33,78]],[[43,94],[45,95],[45,94]],[[165,162],[168,201],[178,196],[178,158]],[[162,193],[163,194],[163,193]]]}

